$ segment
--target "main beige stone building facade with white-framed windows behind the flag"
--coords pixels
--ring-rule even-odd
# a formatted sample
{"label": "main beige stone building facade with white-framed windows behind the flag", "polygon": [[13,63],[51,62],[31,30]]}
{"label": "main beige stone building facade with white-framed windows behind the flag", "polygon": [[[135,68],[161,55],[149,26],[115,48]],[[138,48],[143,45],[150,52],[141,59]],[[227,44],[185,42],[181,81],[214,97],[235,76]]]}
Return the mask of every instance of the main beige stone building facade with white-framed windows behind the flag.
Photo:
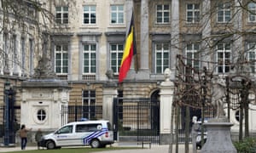
{"label": "main beige stone building facade with white-framed windows behind the flag", "polygon": [[[177,54],[182,54],[186,58],[200,59],[201,62],[191,62],[192,60],[189,59],[185,62],[191,62],[191,66],[197,69],[207,66],[219,76],[229,74],[231,64],[237,63],[241,52],[252,53],[248,55],[247,60],[253,61],[256,57],[253,56],[256,50],[253,33],[256,16],[247,10],[254,12],[256,4],[248,3],[249,0],[239,2],[238,0],[40,1],[42,7],[55,16],[55,24],[49,23],[51,28],[48,55],[57,77],[67,80],[71,88],[68,105],[102,105],[104,83],[108,81],[106,71],[110,69],[113,70],[113,82],[118,83],[118,96],[159,99],[159,85],[164,80],[164,71],[166,68],[170,68],[172,72],[177,71]],[[119,63],[132,12],[135,17],[137,54],[133,58],[131,70],[125,81],[119,83]],[[26,36],[18,30],[15,31],[17,41],[21,42],[16,46],[21,49],[21,53],[24,48],[34,56],[26,54],[25,67],[13,65],[9,67],[9,72],[4,71],[6,66],[0,67],[2,87],[6,78],[10,78],[12,84],[19,87],[20,82],[29,77],[33,73],[33,67],[36,66],[31,58],[42,54],[38,52],[38,46],[33,43],[33,40],[38,40],[37,34],[33,33],[36,27],[32,24],[28,27],[31,34]],[[3,40],[1,41],[3,50],[7,48],[4,42],[8,42],[5,41],[4,36],[5,33],[2,31],[0,39]],[[13,37],[13,34],[8,33],[8,36]],[[22,41],[26,42],[25,46]],[[1,61],[3,65],[5,60]],[[251,65],[252,78],[254,65],[255,63]],[[20,94],[16,95],[16,105],[19,105]],[[3,88],[0,89],[0,99],[3,99]],[[235,122],[237,129],[236,113],[237,110],[232,111],[231,121]],[[250,120],[253,119],[254,114],[252,111]],[[254,130],[256,124],[251,122],[250,127]]]}

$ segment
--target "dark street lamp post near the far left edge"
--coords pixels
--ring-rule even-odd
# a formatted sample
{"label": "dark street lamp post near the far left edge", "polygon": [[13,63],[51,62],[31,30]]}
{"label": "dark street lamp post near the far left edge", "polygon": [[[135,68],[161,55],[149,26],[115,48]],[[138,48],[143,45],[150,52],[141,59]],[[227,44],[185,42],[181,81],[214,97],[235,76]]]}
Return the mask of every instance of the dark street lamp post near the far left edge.
{"label": "dark street lamp post near the far left edge", "polygon": [[10,82],[7,80],[4,82],[4,102],[5,102],[5,109],[4,109],[4,139],[3,144],[5,146],[9,145],[9,91],[10,91]]}

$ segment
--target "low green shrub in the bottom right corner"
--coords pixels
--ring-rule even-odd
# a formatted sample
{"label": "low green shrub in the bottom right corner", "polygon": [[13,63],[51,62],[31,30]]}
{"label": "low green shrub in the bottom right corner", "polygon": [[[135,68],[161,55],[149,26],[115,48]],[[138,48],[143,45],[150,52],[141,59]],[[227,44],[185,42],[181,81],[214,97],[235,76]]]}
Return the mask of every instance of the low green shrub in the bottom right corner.
{"label": "low green shrub in the bottom right corner", "polygon": [[256,139],[246,138],[242,141],[234,143],[237,153],[255,153],[256,152]]}

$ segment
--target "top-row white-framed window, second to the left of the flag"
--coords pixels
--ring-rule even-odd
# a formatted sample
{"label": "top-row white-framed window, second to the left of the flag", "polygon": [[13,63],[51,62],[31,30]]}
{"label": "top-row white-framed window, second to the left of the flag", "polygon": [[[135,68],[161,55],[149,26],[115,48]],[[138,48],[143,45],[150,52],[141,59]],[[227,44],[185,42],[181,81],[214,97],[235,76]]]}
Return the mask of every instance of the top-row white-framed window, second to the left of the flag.
{"label": "top-row white-framed window, second to the left of the flag", "polygon": [[96,6],[86,5],[84,6],[84,24],[95,25],[96,24]]}

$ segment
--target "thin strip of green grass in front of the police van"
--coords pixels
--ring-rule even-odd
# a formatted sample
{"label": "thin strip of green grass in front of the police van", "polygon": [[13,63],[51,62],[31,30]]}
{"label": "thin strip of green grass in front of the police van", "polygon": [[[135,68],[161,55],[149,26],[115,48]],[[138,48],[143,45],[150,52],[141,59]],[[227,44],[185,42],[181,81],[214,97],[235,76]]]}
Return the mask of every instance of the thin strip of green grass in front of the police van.
{"label": "thin strip of green grass in front of the police van", "polygon": [[94,149],[90,147],[79,147],[79,148],[61,148],[56,150],[19,150],[19,151],[11,151],[8,153],[87,153],[87,152],[97,152],[103,150],[132,150],[138,149],[139,147],[107,147],[107,148],[99,148]]}

